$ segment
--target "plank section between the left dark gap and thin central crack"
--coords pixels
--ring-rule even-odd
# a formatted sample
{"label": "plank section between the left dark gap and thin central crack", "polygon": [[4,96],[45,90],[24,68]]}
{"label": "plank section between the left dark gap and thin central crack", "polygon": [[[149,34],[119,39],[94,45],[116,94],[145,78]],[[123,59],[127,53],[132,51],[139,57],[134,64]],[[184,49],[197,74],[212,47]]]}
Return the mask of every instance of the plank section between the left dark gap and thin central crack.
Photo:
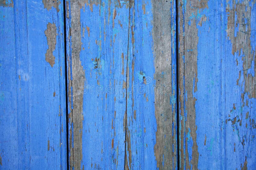
{"label": "plank section between the left dark gap and thin central crack", "polygon": [[124,168],[128,16],[126,1],[66,1],[70,169]]}

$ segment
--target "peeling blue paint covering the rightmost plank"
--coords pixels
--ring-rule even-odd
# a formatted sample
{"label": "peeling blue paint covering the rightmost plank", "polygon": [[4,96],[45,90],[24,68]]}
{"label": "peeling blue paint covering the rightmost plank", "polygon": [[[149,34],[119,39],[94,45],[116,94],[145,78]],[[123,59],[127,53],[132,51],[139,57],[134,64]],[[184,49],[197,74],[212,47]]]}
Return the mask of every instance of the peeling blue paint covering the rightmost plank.
{"label": "peeling blue paint covering the rightmost plank", "polygon": [[[198,25],[200,18],[197,20],[198,82],[197,92],[193,96],[197,99],[195,107],[199,169],[240,168],[244,166],[245,157],[248,169],[253,169],[256,164],[256,140],[253,137],[256,133],[253,125],[250,124],[250,120],[256,117],[256,110],[253,109],[256,107],[256,100],[249,98],[248,93],[244,94],[244,99],[241,98],[241,93],[244,92],[243,62],[247,54],[243,49],[232,54],[232,44],[226,33],[230,15],[226,12],[227,5],[226,1],[208,1],[209,8],[200,11],[201,16],[207,17],[207,21],[200,26]],[[229,5],[230,8],[234,8],[232,1]],[[251,19],[251,46],[252,53],[255,53],[256,5],[251,7],[251,18],[247,19]],[[237,21],[236,13],[235,21]],[[235,24],[234,37],[241,33],[239,32],[241,24],[247,22],[245,19],[244,23]],[[252,74],[254,77],[253,68],[254,64],[247,74]],[[241,71],[240,80],[238,80],[239,71]],[[248,106],[246,104],[242,106],[246,100]],[[234,107],[236,109],[233,109]],[[245,118],[247,112],[250,119]],[[241,125],[240,121],[242,121]],[[205,135],[206,145],[204,145]]]}

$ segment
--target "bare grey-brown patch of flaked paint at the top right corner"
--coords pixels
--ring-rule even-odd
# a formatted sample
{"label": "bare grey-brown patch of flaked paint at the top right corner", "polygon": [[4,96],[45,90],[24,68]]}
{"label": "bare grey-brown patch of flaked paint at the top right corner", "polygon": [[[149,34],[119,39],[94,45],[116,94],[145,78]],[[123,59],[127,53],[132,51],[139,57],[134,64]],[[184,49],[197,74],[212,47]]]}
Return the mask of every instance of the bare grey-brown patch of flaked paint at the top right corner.
{"label": "bare grey-brown patch of flaked paint at the top right corner", "polygon": [[[227,36],[232,44],[232,54],[238,53],[242,57],[243,61],[243,77],[244,80],[240,86],[244,85],[244,94],[249,93],[249,98],[256,98],[256,78],[252,76],[252,73],[248,73],[248,70],[254,65],[254,72],[256,72],[256,60],[254,47],[251,45],[251,5],[255,4],[255,1],[244,0],[242,2],[231,1],[231,5],[227,5],[226,11],[228,12],[228,27]],[[227,3],[229,1],[227,0]],[[238,31],[237,31],[238,27]],[[243,40],[243,41],[241,41]],[[254,64],[252,64],[254,62]],[[241,72],[239,72],[239,78],[241,78]],[[238,82],[237,82],[238,85]],[[244,95],[243,94],[243,95]],[[242,100],[244,97],[241,96]]]}

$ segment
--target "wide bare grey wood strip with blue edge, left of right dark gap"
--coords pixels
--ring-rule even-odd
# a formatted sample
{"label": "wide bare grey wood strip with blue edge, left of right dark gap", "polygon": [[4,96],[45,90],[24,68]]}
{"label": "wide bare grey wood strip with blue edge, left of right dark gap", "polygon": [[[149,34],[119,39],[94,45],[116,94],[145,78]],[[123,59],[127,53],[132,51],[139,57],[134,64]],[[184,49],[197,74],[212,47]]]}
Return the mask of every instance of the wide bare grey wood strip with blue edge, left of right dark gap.
{"label": "wide bare grey wood strip with blue edge, left of right dark gap", "polygon": [[[152,0],[157,168],[177,167],[176,4]],[[150,42],[148,42],[150,43]]]}

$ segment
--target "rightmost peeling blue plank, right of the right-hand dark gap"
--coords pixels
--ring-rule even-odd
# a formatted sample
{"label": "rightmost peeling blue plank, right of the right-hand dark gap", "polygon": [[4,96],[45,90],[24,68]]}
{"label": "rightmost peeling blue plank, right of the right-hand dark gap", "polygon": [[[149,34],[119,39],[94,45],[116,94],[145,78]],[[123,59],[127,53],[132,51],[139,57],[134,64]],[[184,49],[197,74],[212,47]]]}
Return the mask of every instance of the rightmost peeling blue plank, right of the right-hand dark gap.
{"label": "rightmost peeling blue plank, right of the right-hand dark gap", "polygon": [[181,169],[255,168],[255,1],[179,1]]}

